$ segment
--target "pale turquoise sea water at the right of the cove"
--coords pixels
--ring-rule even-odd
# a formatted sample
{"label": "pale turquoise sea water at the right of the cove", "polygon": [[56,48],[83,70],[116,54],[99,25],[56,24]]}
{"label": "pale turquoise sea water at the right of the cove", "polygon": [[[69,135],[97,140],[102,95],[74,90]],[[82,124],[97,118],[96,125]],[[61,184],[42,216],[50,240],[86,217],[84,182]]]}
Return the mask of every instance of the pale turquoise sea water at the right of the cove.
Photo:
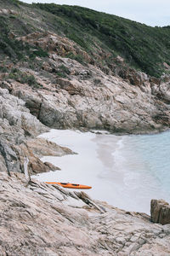
{"label": "pale turquoise sea water at the right of the cove", "polygon": [[160,191],[170,202],[170,131],[125,137],[123,154],[131,165],[129,169],[136,168],[137,173],[145,175],[140,186],[156,191],[156,195]]}

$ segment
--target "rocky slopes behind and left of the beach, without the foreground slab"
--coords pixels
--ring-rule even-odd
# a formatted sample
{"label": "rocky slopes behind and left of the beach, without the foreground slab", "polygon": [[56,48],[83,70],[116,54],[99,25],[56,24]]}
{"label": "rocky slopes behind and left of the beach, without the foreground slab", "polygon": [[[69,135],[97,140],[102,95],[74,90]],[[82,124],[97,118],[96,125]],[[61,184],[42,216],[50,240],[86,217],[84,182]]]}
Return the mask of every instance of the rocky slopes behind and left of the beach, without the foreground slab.
{"label": "rocky slopes behind and left of the beach, without the foreground slab", "polygon": [[[6,73],[1,74],[1,170],[23,172],[26,156],[31,173],[55,170],[55,166],[44,165],[39,157],[71,152],[47,142],[29,141],[30,137],[48,131],[47,126],[105,129],[118,133],[145,133],[169,127],[167,76],[150,78],[125,68],[121,57],[113,60],[119,62],[117,73],[113,67],[110,67],[111,74],[104,73],[102,68],[89,64],[90,61],[82,65],[65,58],[69,51],[83,55],[82,49],[54,33],[35,32],[20,39],[48,50],[49,56],[45,60],[36,59],[39,61],[36,71],[27,64],[15,65],[18,68],[15,76],[21,73],[34,76],[37,84],[41,84],[37,88],[21,84],[20,79],[9,79]],[[104,53],[102,56],[105,57]],[[12,68],[14,64],[8,63],[8,69]]]}

